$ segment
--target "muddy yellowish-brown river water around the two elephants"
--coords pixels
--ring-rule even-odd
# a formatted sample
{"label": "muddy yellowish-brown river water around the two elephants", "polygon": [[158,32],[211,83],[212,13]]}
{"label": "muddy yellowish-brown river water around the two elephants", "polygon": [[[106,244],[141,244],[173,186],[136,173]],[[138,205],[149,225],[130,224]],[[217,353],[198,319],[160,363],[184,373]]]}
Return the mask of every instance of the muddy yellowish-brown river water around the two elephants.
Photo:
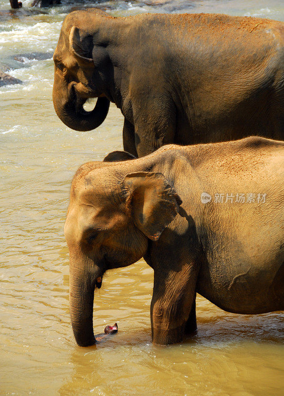
{"label": "muddy yellowish-brown river water around the two elephants", "polygon": [[[70,182],[81,163],[122,148],[123,117],[112,105],[93,132],[63,125],[52,105],[51,54],[64,16],[84,4],[40,10],[30,2],[11,11],[0,0],[0,69],[14,68],[9,73],[23,81],[0,88],[0,395],[283,396],[283,314],[229,314],[198,296],[197,336],[153,346],[153,273],[143,260],[109,273],[96,293],[95,333],[117,321],[118,334],[94,347],[76,346],[63,235]],[[283,0],[97,6],[113,15],[223,12],[284,21]],[[35,51],[48,59],[13,59]]]}

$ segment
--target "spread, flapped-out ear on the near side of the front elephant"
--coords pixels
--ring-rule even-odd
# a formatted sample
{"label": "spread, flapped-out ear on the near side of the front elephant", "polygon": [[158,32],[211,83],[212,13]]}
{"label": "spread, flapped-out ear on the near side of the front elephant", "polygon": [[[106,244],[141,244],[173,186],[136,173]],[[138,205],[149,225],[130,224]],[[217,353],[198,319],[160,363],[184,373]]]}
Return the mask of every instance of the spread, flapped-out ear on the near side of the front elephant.
{"label": "spread, flapped-out ear on the near side of the front elephant", "polygon": [[144,235],[157,241],[178,214],[181,198],[162,173],[130,173],[124,185],[127,212]]}

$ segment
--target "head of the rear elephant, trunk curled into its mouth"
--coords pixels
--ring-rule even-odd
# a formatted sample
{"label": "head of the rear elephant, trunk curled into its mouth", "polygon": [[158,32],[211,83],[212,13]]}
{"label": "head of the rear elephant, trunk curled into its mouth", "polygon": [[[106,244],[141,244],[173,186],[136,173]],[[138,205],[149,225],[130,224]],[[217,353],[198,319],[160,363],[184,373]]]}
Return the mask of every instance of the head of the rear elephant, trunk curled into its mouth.
{"label": "head of the rear elephant, trunk curled into its mouth", "polygon": [[[95,11],[98,19],[101,13]],[[103,93],[103,81],[97,67],[107,63],[108,56],[104,47],[94,45],[93,14],[77,11],[65,18],[53,55],[54,109],[65,125],[77,131],[97,128],[107,116],[110,104]],[[81,26],[82,20],[84,26]],[[92,111],[86,111],[83,107],[89,98],[98,98]]]}

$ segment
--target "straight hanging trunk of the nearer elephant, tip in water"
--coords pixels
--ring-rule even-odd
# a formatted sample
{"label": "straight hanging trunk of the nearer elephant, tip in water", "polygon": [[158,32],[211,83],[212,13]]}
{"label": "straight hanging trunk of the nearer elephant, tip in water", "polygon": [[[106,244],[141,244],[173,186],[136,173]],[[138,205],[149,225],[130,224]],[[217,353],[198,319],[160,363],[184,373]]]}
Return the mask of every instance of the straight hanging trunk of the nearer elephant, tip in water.
{"label": "straight hanging trunk of the nearer elephant, tip in water", "polygon": [[90,273],[70,266],[70,314],[75,340],[80,347],[95,344],[93,304],[95,282]]}

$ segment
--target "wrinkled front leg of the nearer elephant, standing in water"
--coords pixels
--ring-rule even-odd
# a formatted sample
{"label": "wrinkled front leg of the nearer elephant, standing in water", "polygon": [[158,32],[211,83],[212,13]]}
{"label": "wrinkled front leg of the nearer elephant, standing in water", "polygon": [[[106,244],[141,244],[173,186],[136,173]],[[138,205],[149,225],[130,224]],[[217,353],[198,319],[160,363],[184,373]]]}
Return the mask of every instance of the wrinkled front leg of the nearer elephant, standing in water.
{"label": "wrinkled front leg of the nearer elephant, standing in water", "polygon": [[195,298],[197,270],[185,264],[179,271],[154,269],[154,289],[151,301],[153,343],[174,344],[183,341],[189,312]]}

